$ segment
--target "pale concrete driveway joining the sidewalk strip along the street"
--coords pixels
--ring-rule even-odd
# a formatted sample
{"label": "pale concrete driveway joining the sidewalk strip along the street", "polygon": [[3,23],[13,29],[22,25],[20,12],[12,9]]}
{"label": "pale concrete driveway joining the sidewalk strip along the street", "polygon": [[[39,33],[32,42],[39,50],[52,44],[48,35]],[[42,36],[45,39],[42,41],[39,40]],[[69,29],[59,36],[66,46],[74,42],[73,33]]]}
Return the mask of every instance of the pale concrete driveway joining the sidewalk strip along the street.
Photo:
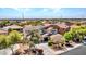
{"label": "pale concrete driveway joining the sidewalk strip along the street", "polygon": [[83,46],[83,44],[82,43],[75,43],[75,46],[73,48],[66,48],[66,50],[53,51],[52,49],[50,49],[50,47],[48,47],[47,43],[36,44],[37,48],[44,49],[44,54],[45,55],[59,55],[61,53],[64,53],[64,52],[71,51],[71,50],[73,50],[75,48],[78,48],[81,46]]}

